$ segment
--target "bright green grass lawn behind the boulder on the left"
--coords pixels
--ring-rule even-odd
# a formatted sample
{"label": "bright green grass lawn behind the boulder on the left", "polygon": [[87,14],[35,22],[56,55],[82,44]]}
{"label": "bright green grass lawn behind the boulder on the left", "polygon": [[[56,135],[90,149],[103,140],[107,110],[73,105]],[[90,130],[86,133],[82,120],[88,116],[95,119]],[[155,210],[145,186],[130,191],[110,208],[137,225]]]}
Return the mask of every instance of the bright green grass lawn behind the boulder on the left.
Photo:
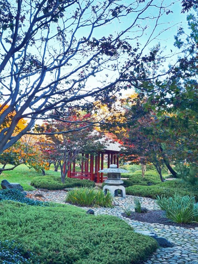
{"label": "bright green grass lawn behind the boulder on the left", "polygon": [[[7,165],[6,168],[12,167]],[[45,171],[46,175],[59,175],[59,171],[54,171],[54,166],[51,165],[49,171]],[[26,165],[22,164],[12,171],[4,171],[0,175],[0,181],[6,179],[11,183],[19,183],[23,186],[25,191],[32,191],[35,188],[30,185],[31,180],[36,176],[42,176],[42,172],[37,172],[34,169],[29,169]],[[1,188],[1,185],[0,185]]]}

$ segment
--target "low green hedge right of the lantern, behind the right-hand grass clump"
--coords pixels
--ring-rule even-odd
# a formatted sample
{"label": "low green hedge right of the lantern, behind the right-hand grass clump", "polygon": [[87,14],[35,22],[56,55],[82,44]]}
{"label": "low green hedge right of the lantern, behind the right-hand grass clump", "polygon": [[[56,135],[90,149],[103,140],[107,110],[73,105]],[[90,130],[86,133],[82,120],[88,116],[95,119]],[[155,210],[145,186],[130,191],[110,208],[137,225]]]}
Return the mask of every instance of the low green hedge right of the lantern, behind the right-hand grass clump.
{"label": "low green hedge right of the lantern, behind the right-hand grass clump", "polygon": [[192,195],[198,201],[198,188],[182,182],[181,180],[169,180],[164,183],[151,186],[133,185],[126,188],[126,193],[142,197],[156,198],[157,195],[173,197],[175,193],[182,196]]}

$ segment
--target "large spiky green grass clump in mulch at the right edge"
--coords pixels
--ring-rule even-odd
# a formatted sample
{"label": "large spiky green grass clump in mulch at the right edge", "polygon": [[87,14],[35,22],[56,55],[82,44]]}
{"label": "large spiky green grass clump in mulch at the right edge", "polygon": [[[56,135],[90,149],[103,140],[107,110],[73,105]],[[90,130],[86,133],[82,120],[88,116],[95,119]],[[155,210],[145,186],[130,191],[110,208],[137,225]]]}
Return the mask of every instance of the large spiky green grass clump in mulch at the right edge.
{"label": "large spiky green grass clump in mulch at the right edge", "polygon": [[175,223],[198,222],[198,206],[193,196],[157,196],[156,202],[161,210],[165,210],[165,216]]}

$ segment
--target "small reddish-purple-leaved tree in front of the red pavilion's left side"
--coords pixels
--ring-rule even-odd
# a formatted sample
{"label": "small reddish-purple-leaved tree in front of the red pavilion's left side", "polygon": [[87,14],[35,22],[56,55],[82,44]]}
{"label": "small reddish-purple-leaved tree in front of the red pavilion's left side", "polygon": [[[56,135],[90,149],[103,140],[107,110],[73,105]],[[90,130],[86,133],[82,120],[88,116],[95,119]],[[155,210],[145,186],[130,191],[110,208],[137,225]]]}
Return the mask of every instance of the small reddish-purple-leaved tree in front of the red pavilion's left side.
{"label": "small reddish-purple-leaved tree in front of the red pavilion's left side", "polygon": [[[91,125],[87,127],[87,121],[93,119],[90,114],[70,110],[67,116],[67,122],[52,120],[40,128],[45,132],[55,133],[46,136],[47,142],[42,144],[43,153],[50,157],[50,161],[57,162],[60,166],[62,183],[65,183],[71,162],[74,162],[80,153],[93,155],[104,148],[98,141],[101,133],[94,130]],[[71,132],[57,134],[62,131]]]}

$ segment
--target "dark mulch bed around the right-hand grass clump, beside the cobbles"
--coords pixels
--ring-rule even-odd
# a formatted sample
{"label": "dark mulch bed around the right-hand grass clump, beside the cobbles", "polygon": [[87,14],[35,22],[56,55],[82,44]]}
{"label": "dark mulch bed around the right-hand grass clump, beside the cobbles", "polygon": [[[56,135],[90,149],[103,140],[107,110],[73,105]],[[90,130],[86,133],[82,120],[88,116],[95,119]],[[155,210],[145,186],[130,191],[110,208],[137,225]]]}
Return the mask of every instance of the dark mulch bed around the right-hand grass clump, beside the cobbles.
{"label": "dark mulch bed around the right-hand grass clump, beside the cobbles", "polygon": [[146,222],[146,223],[158,223],[170,226],[185,227],[185,228],[194,228],[198,227],[198,223],[188,223],[188,224],[179,224],[171,222],[167,217],[164,216],[165,211],[163,210],[152,210],[148,213],[136,213],[132,212],[130,216],[123,214],[123,216],[130,218],[132,220]]}

